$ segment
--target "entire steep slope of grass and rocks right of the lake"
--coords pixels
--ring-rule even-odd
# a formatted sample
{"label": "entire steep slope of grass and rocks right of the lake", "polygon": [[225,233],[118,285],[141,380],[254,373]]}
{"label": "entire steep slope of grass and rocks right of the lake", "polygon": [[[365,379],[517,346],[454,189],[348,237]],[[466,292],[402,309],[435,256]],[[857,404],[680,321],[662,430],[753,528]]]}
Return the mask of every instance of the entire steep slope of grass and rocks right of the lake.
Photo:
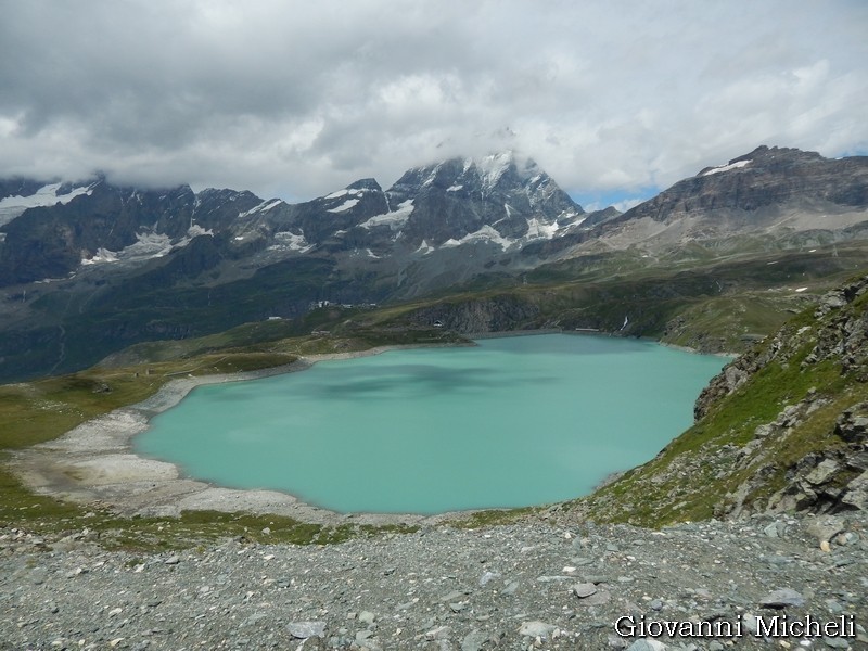
{"label": "entire steep slope of grass and rocks right of the lake", "polygon": [[695,417],[589,512],[656,523],[868,509],[868,276],[728,365]]}

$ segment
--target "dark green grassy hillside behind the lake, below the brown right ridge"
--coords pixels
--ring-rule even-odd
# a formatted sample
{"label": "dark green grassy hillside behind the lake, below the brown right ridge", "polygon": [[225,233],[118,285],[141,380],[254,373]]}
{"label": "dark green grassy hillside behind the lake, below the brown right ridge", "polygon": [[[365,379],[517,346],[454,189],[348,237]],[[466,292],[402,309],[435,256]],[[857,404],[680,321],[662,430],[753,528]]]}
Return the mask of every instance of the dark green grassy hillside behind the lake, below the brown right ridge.
{"label": "dark green grassy hillside behind the lake, below the brown right ridge", "polygon": [[[526,284],[471,285],[359,317],[378,328],[399,328],[432,306],[518,303],[534,317],[512,327],[596,328],[718,353],[742,352],[775,332],[793,312],[852,276],[864,251],[763,253],[739,258],[643,263],[618,253],[542,267]],[[774,264],[770,264],[774,263]],[[807,288],[804,292],[796,292]],[[622,330],[625,318],[627,327]]]}

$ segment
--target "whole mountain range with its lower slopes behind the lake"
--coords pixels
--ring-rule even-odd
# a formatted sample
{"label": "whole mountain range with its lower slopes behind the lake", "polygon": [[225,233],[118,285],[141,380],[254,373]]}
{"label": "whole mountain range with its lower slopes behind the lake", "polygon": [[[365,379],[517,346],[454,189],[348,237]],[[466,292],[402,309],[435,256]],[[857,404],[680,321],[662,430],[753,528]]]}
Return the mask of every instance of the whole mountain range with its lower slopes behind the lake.
{"label": "whole mountain range with its lower slopes behind the lake", "polygon": [[[294,205],[104,178],[8,180],[0,379],[68,372],[141,341],[268,318],[302,334],[317,305],[492,293],[548,305],[535,318],[449,327],[585,328],[737,352],[742,335],[768,334],[781,322],[773,315],[797,309],[799,292],[827,290],[860,266],[867,170],[866,157],[762,146],[624,214],[585,213],[512,152],[414,168],[385,191],[362,179]],[[628,314],[625,295],[647,307]],[[746,301],[736,336],[691,327],[709,301]]]}

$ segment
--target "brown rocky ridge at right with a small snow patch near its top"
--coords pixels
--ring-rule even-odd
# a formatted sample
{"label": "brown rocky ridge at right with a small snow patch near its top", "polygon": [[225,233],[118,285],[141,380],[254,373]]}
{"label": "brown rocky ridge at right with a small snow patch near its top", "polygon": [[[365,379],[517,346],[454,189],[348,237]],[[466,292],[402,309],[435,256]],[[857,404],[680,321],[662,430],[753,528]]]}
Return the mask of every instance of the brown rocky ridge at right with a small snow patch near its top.
{"label": "brown rocky ridge at right with a small snow patch near its top", "polygon": [[829,159],[763,145],[678,181],[602,228],[574,235],[566,251],[636,246],[656,256],[693,244],[718,253],[809,248],[864,239],[867,207],[868,156]]}

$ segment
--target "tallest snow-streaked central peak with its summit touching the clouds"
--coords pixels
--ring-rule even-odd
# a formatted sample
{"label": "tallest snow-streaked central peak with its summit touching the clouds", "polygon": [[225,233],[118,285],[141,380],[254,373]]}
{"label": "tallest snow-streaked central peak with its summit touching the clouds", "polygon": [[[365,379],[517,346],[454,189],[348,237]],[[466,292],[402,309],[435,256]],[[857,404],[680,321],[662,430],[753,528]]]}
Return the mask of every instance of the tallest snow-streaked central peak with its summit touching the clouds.
{"label": "tallest snow-streaked central peak with its summit touching the clouds", "polygon": [[290,242],[298,251],[362,252],[378,259],[485,242],[516,251],[566,232],[584,217],[533,161],[510,152],[413,168],[385,191],[361,179],[310,202],[275,206],[257,232],[278,246]]}

